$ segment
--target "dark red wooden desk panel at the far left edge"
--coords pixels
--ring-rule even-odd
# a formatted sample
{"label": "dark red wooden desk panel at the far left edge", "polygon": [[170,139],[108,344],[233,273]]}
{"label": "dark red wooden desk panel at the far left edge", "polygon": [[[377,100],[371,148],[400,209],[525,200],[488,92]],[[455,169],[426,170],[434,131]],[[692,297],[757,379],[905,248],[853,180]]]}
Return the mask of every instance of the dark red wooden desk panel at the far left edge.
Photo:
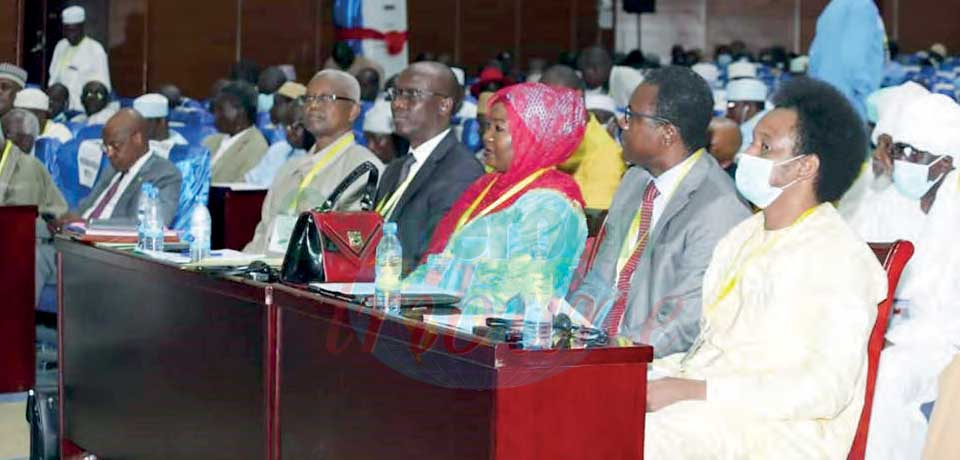
{"label": "dark red wooden desk panel at the far left edge", "polygon": [[33,388],[36,206],[0,206],[0,393]]}

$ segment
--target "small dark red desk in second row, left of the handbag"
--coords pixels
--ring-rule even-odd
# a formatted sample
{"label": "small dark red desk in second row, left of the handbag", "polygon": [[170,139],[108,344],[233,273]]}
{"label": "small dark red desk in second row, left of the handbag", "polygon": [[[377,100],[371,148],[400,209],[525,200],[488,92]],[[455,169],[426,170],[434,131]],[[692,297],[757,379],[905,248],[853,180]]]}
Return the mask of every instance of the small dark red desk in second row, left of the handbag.
{"label": "small dark red desk in second row, left of the handbag", "polygon": [[210,247],[242,250],[253,239],[266,196],[266,190],[210,187]]}

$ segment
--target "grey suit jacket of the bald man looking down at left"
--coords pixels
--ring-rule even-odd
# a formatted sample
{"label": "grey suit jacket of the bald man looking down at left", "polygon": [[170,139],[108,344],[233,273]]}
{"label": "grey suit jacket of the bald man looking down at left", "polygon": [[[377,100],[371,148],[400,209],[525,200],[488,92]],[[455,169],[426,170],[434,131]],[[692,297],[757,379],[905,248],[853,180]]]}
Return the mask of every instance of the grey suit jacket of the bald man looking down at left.
{"label": "grey suit jacket of the bald man looking down at left", "polygon": [[[77,205],[77,214],[83,214],[97,202],[97,198],[106,192],[110,181],[116,174],[117,170],[113,169],[112,165],[107,166],[103,174],[97,178],[97,182],[93,184],[90,195],[87,195]],[[160,190],[160,212],[163,215],[165,225],[169,227],[173,223],[173,217],[177,212],[177,204],[180,201],[182,178],[180,170],[170,160],[156,154],[144,163],[137,176],[133,178],[127,189],[120,195],[110,218],[98,219],[97,222],[107,225],[136,225],[140,188],[144,182],[150,182]]]}

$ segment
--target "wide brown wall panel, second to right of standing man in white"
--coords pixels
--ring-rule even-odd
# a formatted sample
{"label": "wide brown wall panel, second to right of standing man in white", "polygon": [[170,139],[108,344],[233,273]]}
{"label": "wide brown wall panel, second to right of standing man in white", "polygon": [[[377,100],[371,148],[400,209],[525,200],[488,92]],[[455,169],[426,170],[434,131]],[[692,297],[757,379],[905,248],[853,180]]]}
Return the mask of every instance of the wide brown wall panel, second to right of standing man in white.
{"label": "wide brown wall panel, second to right of standing man in white", "polygon": [[236,60],[237,13],[236,0],[150,0],[147,86],[174,82],[206,98]]}

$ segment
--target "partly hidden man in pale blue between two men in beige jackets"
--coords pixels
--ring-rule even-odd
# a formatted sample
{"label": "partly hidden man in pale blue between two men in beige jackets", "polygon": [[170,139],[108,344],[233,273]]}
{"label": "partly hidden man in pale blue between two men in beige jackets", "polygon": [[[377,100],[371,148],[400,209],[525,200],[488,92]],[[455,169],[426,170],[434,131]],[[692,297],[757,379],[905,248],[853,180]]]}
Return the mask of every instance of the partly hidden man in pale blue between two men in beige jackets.
{"label": "partly hidden man in pale blue between two men in beige jackets", "polygon": [[[304,87],[306,91],[306,87]],[[270,146],[263,160],[245,176],[244,180],[248,184],[256,184],[269,187],[273,183],[277,172],[283,165],[294,158],[299,158],[307,154],[313,148],[316,140],[313,134],[304,127],[306,107],[302,99],[297,99],[290,104],[288,110],[284,112],[281,119],[286,133],[286,140],[277,142]]]}

